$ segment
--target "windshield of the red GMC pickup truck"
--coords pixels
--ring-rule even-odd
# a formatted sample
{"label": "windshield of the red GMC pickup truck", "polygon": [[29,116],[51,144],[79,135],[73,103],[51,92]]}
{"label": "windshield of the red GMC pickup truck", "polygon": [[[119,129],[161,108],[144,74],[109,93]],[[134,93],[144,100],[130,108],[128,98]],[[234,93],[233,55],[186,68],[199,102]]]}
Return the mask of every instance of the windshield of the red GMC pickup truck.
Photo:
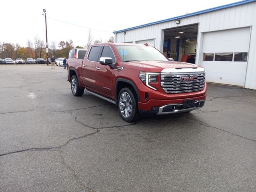
{"label": "windshield of the red GMC pickup truck", "polygon": [[118,54],[123,62],[129,61],[167,61],[167,58],[151,46],[118,45]]}

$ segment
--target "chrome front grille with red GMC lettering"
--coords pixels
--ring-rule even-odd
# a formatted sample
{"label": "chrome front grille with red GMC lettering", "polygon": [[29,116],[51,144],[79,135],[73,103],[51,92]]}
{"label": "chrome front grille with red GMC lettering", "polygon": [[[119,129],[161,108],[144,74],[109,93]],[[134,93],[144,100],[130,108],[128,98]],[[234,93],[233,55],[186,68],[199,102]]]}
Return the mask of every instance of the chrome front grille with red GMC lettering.
{"label": "chrome front grille with red GMC lettering", "polygon": [[186,93],[204,89],[205,72],[161,74],[161,87],[166,93]]}

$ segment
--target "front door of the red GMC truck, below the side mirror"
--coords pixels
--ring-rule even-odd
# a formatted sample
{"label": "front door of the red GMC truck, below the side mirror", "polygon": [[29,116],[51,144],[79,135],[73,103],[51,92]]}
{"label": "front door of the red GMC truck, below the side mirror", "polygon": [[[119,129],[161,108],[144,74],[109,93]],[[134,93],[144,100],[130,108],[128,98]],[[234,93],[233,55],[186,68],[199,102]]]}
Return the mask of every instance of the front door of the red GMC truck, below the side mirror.
{"label": "front door of the red GMC truck, below the side mirror", "polygon": [[[100,57],[110,57],[113,60],[113,64],[116,63],[113,50],[110,46],[103,46],[100,53]],[[100,58],[99,57],[99,58]],[[114,70],[108,65],[102,65],[96,63],[95,70],[95,87],[101,94],[114,98]]]}

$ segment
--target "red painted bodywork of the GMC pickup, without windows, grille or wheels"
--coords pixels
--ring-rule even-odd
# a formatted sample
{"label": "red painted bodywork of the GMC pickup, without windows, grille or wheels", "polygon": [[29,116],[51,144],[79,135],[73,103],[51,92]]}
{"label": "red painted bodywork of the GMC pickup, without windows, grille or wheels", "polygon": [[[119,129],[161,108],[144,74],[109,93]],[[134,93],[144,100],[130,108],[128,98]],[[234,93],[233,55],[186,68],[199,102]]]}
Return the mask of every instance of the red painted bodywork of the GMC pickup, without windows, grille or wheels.
{"label": "red painted bodywork of the GMC pickup, without windows, grille or wheels", "polygon": [[[184,100],[195,99],[205,100],[206,99],[206,83],[204,89],[196,92],[187,93],[176,93],[167,94],[164,92],[160,85],[160,76],[154,84],[157,90],[153,90],[146,86],[139,78],[140,71],[144,72],[157,72],[160,73],[165,68],[197,68],[195,64],[183,63],[183,62],[172,62],[172,61],[141,61],[141,62],[122,62],[115,45],[115,43],[97,44],[110,46],[114,52],[116,63],[114,69],[111,69],[108,65],[102,65],[99,62],[91,62],[87,59],[89,50],[86,52],[84,60],[80,59],[68,59],[68,72],[70,69],[76,71],[78,75],[79,85],[82,88],[94,91],[97,94],[108,97],[112,100],[116,100],[116,82],[118,79],[125,79],[137,89],[137,97],[140,98],[138,101],[138,109],[140,110],[152,110],[152,107],[160,107],[166,104],[178,104],[183,103]],[[83,67],[86,65],[86,67]],[[117,67],[123,67],[123,70],[116,70]],[[71,77],[68,74],[68,79]],[[145,94],[148,94],[145,98]]]}

